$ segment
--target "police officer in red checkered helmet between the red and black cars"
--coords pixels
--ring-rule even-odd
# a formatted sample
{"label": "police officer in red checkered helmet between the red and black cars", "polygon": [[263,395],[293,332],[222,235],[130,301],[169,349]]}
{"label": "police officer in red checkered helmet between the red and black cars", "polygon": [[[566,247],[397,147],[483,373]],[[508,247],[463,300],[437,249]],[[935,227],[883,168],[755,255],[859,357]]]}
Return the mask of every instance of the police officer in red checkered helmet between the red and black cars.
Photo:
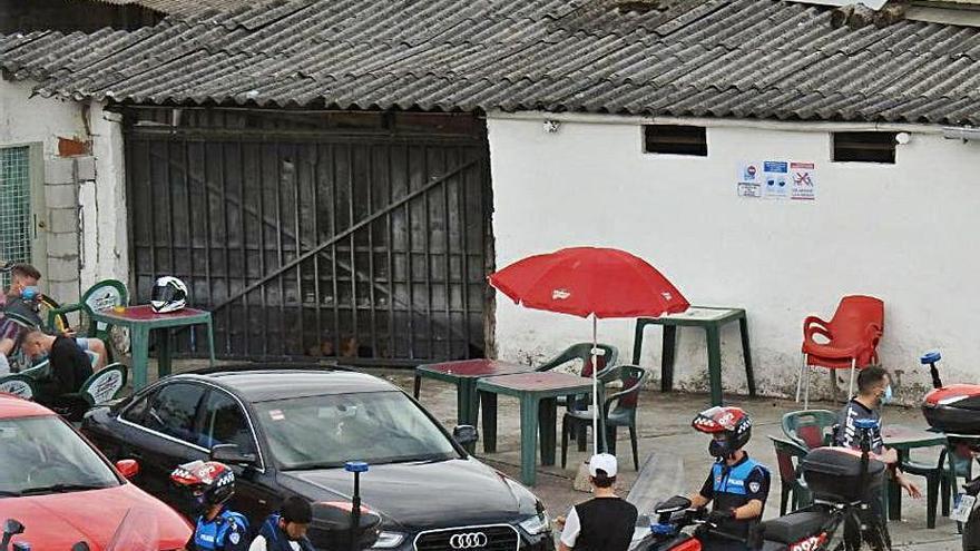
{"label": "police officer in red checkered helmet between the red and black cars", "polygon": [[235,473],[216,461],[193,461],[170,473],[170,480],[190,492],[197,527],[187,551],[245,551],[248,549],[248,520],[225,506],[235,494]]}

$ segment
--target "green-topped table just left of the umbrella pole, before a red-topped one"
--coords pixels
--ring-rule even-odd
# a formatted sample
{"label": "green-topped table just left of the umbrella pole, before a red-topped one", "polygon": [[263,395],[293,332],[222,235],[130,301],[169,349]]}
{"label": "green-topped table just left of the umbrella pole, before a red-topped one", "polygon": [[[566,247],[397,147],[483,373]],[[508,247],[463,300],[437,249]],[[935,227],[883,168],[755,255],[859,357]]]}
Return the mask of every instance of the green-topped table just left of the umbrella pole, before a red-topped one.
{"label": "green-topped table just left of the umbrella pole, before a red-topped one", "polygon": [[[521,419],[521,480],[535,485],[537,471],[535,455],[538,453],[538,429],[541,431],[541,464],[555,464],[558,396],[589,394],[592,380],[553,371],[517,373],[477,381],[477,391],[488,394],[514,396],[520,401]],[[599,403],[602,403],[599,385]],[[486,416],[486,414],[484,414]],[[599,423],[599,442],[604,442],[605,424]]]}

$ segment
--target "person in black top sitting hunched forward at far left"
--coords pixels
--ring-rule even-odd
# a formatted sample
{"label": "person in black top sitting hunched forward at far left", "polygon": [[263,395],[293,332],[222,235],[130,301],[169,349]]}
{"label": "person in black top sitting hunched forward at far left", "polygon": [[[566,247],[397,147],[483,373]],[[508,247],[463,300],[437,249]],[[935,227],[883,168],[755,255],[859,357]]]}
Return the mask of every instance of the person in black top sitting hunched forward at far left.
{"label": "person in black top sitting hunched forward at far left", "polygon": [[47,355],[50,362],[51,377],[39,381],[38,402],[70,419],[79,417],[88,404],[68,395],[80,391],[92,374],[88,354],[69,337],[46,335],[38,329],[24,335],[21,346],[29,357]]}

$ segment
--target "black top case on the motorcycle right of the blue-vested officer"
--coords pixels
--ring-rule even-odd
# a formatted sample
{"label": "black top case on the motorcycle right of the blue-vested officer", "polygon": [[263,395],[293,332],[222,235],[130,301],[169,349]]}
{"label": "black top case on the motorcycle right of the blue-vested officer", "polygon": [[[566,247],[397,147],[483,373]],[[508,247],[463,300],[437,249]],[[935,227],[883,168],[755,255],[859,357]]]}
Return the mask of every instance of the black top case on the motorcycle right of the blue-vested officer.
{"label": "black top case on the motorcycle right of the blue-vested officer", "polygon": [[884,481],[885,465],[868,460],[866,492],[861,494],[861,452],[849,447],[817,447],[803,459],[803,478],[820,500],[853,502],[865,499]]}

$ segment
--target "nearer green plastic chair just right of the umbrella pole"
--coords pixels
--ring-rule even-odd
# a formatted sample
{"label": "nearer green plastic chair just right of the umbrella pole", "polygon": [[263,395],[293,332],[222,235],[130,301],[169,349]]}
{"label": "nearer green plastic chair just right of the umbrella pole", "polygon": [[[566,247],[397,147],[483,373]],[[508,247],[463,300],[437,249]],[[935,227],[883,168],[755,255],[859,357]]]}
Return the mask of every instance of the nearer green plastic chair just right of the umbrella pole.
{"label": "nearer green plastic chair just right of the umbrella pole", "polygon": [[[636,434],[636,409],[639,391],[643,384],[650,377],[649,371],[637,365],[619,365],[602,370],[598,374],[599,384],[606,385],[612,381],[623,382],[623,390],[606,397],[601,405],[602,422],[606,423],[605,449],[616,454],[616,429],[626,426],[629,429],[629,443],[633,449],[633,465],[639,471],[639,452]],[[581,430],[582,434],[592,424],[592,410],[567,406],[561,420],[561,466],[568,462],[568,439],[574,431]],[[579,440],[579,445],[585,444],[585,439]]]}

